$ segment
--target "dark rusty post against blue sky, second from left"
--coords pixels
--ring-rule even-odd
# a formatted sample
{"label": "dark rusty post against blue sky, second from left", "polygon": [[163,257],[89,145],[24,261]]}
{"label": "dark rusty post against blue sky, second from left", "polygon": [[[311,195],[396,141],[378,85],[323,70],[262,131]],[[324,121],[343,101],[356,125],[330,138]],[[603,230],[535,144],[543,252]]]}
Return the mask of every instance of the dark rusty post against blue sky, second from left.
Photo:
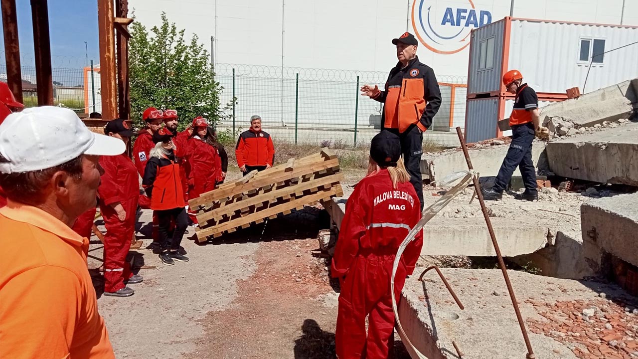
{"label": "dark rusty post against blue sky, second from left", "polygon": [[48,33],[47,0],[31,0],[31,17],[33,19],[33,45],[36,55],[38,106],[52,106],[53,76],[51,74],[51,42]]}

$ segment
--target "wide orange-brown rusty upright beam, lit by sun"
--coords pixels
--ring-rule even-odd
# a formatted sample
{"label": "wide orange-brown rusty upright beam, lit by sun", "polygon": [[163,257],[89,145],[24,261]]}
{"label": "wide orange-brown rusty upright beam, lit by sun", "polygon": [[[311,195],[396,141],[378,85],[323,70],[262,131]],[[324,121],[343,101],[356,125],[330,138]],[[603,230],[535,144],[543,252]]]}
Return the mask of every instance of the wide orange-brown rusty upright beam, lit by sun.
{"label": "wide orange-brown rusty upright beam, lit by sun", "polygon": [[118,117],[113,20],[113,0],[98,0],[102,118],[107,120]]}

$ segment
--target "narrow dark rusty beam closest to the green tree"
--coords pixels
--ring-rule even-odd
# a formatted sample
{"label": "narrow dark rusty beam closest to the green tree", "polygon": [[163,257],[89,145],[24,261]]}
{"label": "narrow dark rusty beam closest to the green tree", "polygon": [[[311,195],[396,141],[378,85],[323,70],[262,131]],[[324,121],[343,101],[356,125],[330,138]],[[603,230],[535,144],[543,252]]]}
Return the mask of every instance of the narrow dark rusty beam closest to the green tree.
{"label": "narrow dark rusty beam closest to the green tree", "polygon": [[[128,79],[128,33],[127,26],[133,19],[128,15],[128,0],[115,0],[115,25],[117,26],[117,103],[119,118],[131,118],[130,87]],[[130,21],[118,21],[119,19]]]}

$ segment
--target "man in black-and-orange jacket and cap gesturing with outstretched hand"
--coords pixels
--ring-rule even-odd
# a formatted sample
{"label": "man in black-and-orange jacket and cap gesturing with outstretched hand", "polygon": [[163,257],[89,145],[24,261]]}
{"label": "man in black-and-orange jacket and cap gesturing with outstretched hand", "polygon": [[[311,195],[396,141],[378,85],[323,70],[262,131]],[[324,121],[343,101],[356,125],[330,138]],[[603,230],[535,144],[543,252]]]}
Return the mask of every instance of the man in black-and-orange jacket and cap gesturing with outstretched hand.
{"label": "man in black-and-orange jacket and cap gesturing with outstretched hand", "polygon": [[432,125],[432,119],[441,105],[441,90],[434,70],[419,62],[417,39],[403,33],[392,40],[396,45],[399,63],[390,70],[385,91],[364,85],[361,95],[385,103],[381,115],[382,130],[399,135],[401,153],[423,210],[423,179],[420,161],[423,153],[423,132]]}

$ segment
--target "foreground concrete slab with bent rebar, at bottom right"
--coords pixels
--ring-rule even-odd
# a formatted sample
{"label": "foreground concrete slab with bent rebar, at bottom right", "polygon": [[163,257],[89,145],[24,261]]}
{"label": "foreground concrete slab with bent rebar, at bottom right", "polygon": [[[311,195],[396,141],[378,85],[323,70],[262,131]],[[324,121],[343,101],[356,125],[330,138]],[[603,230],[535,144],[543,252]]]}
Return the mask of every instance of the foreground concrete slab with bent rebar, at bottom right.
{"label": "foreground concrete slab with bent rebar, at bottom right", "polygon": [[[525,358],[523,335],[500,270],[441,269],[465,307],[461,310],[434,271],[426,274],[426,282],[419,282],[423,269],[417,268],[406,280],[398,307],[406,335],[422,353],[430,359],[458,358],[454,340],[463,358]],[[508,274],[537,358],[577,358],[572,349],[579,347],[577,339],[584,338],[574,337],[572,341],[571,337],[558,336],[560,342],[551,337],[558,333],[532,329],[535,321],[546,320],[537,311],[545,308],[537,309],[534,303],[550,307],[576,300],[598,303],[598,291],[614,296],[621,293],[617,286],[594,282],[553,279],[521,271]],[[581,316],[580,312],[576,314]]]}

